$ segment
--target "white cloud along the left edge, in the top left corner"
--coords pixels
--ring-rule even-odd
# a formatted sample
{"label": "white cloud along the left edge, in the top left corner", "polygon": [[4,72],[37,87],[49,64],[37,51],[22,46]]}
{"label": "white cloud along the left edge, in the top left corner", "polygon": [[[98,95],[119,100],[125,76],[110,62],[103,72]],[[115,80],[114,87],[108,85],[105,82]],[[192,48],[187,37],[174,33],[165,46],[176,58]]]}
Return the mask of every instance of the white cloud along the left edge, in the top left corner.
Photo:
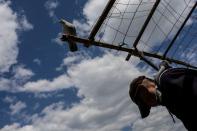
{"label": "white cloud along the left edge, in the top left corner", "polygon": [[33,26],[23,16],[10,8],[11,1],[0,1],[0,72],[8,72],[10,66],[17,63],[18,56],[18,30],[29,30]]}

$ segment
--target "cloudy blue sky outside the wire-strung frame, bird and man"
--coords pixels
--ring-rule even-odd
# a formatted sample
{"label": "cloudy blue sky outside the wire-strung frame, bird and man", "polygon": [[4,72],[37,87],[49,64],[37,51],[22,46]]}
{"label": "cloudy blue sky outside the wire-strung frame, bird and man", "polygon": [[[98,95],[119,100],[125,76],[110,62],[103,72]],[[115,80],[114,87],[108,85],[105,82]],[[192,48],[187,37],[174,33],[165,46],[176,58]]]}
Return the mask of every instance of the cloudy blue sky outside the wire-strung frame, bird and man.
{"label": "cloudy blue sky outside the wire-strung frame, bird and man", "polygon": [[138,59],[58,39],[60,18],[85,37],[106,3],[0,0],[0,131],[185,131],[163,107],[140,118],[128,86],[152,70]]}

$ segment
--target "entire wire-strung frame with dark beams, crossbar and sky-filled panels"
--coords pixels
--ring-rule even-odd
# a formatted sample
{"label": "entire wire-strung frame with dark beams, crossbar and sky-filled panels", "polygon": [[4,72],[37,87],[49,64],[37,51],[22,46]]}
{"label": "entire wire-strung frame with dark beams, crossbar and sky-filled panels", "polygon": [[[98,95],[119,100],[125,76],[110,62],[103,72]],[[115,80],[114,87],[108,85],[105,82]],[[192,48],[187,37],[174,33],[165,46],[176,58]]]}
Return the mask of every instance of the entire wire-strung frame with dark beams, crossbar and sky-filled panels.
{"label": "entire wire-strung frame with dark beams, crossbar and sky-filled panels", "polygon": [[126,60],[136,56],[156,70],[152,58],[197,69],[197,2],[181,0],[176,9],[173,1],[109,0],[88,38],[61,39],[128,52]]}

